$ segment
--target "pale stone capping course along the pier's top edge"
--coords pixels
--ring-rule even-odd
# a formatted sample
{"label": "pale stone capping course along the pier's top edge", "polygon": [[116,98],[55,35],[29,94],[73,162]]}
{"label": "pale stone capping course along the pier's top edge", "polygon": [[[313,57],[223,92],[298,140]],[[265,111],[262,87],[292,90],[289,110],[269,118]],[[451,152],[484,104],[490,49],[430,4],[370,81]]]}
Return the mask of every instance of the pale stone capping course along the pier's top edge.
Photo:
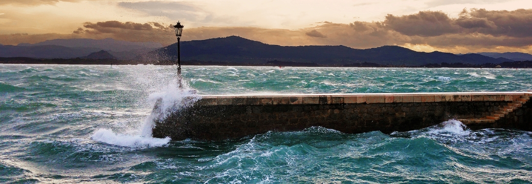
{"label": "pale stone capping course along the pier's top edge", "polygon": [[515,101],[527,92],[201,95],[197,105],[360,104]]}

